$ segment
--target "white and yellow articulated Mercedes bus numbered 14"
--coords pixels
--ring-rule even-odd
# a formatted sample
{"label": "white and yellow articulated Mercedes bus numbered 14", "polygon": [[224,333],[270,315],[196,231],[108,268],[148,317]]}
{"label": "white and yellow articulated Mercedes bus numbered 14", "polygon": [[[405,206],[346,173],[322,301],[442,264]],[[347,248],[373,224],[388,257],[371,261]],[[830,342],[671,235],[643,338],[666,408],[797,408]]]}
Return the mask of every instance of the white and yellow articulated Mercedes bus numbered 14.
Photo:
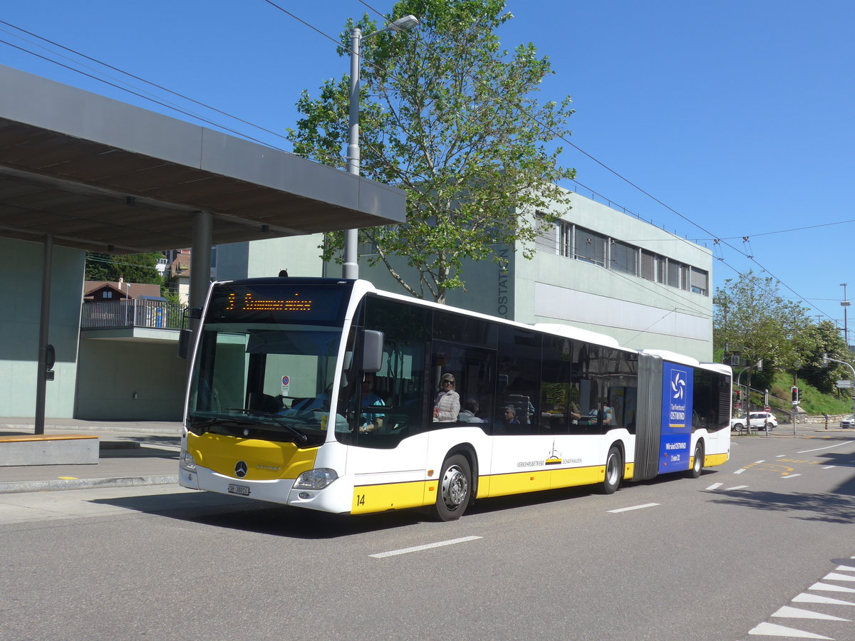
{"label": "white and yellow articulated Mercedes bus numbered 14", "polygon": [[730,452],[730,368],[377,291],[363,280],[211,285],[180,485],[335,514],[662,473]]}

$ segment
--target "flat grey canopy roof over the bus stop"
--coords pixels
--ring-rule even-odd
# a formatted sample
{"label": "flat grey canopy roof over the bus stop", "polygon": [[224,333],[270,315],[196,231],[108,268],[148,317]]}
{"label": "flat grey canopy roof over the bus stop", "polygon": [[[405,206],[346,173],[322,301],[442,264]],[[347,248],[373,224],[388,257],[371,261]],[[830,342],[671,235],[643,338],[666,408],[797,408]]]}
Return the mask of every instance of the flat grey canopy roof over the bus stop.
{"label": "flat grey canopy roof over the bus stop", "polygon": [[113,254],[404,221],[404,191],[0,66],[0,236]]}

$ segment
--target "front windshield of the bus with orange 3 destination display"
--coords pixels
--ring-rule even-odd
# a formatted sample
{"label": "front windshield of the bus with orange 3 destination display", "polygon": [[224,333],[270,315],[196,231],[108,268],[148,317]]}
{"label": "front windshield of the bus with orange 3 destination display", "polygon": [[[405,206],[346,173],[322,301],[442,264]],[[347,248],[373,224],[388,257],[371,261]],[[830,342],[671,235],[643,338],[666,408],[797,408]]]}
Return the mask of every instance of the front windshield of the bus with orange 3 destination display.
{"label": "front windshield of the bus with orange 3 destination display", "polygon": [[188,430],[321,444],[345,303],[334,286],[216,285],[192,372]]}

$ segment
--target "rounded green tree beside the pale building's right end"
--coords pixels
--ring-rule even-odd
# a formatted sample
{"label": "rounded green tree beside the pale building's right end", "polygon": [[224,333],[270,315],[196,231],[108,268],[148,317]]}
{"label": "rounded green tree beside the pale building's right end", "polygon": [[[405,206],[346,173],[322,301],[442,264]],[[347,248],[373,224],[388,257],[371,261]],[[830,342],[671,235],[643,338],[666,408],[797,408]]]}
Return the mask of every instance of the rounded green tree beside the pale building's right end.
{"label": "rounded green tree beside the pale building's right end", "polygon": [[746,371],[747,385],[752,373],[770,385],[776,370],[792,371],[807,358],[811,343],[800,338],[811,327],[807,310],[778,293],[778,283],[749,271],[739,279],[727,279],[716,288],[713,315],[713,342],[725,353],[739,353],[746,364],[763,361],[764,371]]}

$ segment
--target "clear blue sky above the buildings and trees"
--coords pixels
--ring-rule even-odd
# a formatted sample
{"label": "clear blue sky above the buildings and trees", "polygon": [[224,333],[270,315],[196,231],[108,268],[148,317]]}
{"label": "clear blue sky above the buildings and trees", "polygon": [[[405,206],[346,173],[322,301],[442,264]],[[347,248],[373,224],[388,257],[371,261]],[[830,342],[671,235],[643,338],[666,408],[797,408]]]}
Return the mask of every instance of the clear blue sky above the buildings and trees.
{"label": "clear blue sky above the buildings and trees", "polygon": [[[284,135],[300,91],[348,71],[323,34],[336,38],[348,16],[392,3],[276,2],[310,26],[264,0],[28,0],[8,3],[0,20]],[[534,42],[551,58],[556,73],[541,97],[573,97],[570,140],[584,153],[565,145],[562,162],[581,185],[709,246],[722,259],[715,285],[765,269],[815,319],[842,326],[840,283],[855,298],[855,3],[508,0],[507,9],[515,17],[499,32],[504,47]],[[68,62],[53,45],[0,30],[3,41],[81,68],[78,56],[62,52]],[[86,73],[121,78],[85,63],[96,69]],[[191,120],[9,44],[0,43],[0,64]],[[271,133],[146,89],[290,150]]]}

